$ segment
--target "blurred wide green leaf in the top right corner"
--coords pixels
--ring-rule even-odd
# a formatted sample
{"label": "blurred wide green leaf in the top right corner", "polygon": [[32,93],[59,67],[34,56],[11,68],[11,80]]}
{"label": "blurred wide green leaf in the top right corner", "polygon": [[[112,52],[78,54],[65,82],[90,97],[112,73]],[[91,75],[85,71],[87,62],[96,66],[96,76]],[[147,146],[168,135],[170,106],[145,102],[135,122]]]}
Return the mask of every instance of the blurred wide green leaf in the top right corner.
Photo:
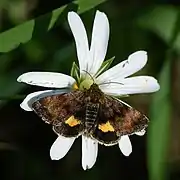
{"label": "blurred wide green leaf in the top right corner", "polygon": [[156,6],[141,16],[138,23],[143,28],[156,33],[169,44],[172,40],[178,14],[179,9],[175,6]]}

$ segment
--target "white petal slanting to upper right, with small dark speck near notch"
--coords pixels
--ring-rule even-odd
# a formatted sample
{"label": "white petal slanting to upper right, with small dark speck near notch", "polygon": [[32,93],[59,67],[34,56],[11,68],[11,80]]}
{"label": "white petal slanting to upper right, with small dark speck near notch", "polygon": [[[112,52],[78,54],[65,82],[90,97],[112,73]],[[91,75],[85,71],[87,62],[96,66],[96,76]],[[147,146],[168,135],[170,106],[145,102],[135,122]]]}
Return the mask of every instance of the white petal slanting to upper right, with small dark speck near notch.
{"label": "white petal slanting to upper right, with small dark speck near notch", "polygon": [[116,66],[105,71],[98,77],[99,83],[106,83],[110,81],[118,81],[128,77],[140,69],[147,63],[147,52],[137,51],[128,57],[128,60],[122,61]]}

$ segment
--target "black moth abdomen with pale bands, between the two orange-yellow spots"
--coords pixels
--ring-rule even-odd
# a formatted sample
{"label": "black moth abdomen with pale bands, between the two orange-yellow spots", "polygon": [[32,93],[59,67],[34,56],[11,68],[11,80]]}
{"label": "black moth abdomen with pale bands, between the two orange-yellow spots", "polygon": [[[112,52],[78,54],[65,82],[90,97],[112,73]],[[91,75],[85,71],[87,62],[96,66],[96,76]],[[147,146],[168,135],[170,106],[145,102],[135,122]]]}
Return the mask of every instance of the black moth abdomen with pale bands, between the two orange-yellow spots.
{"label": "black moth abdomen with pale bands, between the two orange-yellow spots", "polygon": [[86,105],[86,121],[85,126],[89,130],[93,127],[99,110],[99,104],[88,103]]}

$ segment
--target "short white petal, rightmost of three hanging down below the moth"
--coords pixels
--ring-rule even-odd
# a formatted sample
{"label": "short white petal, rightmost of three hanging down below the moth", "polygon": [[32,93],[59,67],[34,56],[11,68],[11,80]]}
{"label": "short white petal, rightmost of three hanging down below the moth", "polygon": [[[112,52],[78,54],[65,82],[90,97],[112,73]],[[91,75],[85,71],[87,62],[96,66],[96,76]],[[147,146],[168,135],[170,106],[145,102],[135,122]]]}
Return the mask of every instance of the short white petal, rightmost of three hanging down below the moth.
{"label": "short white petal, rightmost of three hanging down below the moth", "polygon": [[122,136],[119,140],[119,148],[125,156],[129,156],[132,152],[132,145],[128,135]]}

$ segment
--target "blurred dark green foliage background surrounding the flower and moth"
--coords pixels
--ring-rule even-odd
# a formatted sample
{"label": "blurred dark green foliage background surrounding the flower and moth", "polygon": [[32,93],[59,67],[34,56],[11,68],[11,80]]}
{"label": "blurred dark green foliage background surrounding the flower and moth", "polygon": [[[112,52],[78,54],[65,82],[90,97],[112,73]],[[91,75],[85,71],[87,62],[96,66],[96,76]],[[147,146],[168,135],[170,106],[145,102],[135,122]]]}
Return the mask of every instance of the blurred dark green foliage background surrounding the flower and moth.
{"label": "blurred dark green foliage background surrounding the flower and moth", "polygon": [[[145,136],[130,137],[132,154],[99,145],[95,166],[83,171],[80,138],[62,160],[50,160],[51,126],[19,107],[44,88],[16,79],[35,70],[69,74],[77,58],[67,12],[78,11],[90,37],[97,9],[110,21],[106,59],[116,56],[117,64],[146,50],[148,64],[138,74],[156,77],[161,90],[123,99],[150,119]],[[173,0],[0,0],[0,179],[179,180],[179,52],[180,7]]]}

